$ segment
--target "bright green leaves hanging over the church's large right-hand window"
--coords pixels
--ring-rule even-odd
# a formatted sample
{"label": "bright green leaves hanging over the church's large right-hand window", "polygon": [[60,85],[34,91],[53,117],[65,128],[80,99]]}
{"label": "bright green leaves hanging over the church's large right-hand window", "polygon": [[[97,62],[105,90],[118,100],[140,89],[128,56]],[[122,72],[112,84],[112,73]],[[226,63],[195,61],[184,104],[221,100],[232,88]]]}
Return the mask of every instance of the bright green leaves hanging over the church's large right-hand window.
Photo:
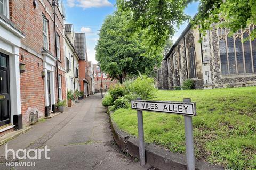
{"label": "bright green leaves hanging over the church's large right-hand window", "polygon": [[[246,12],[245,12],[246,11]],[[220,20],[221,19],[221,20]],[[228,28],[230,33],[247,28],[250,24],[256,24],[256,1],[255,0],[201,0],[199,12],[193,24],[200,25],[200,31],[205,33],[216,27]],[[256,29],[250,34],[256,38]]]}

